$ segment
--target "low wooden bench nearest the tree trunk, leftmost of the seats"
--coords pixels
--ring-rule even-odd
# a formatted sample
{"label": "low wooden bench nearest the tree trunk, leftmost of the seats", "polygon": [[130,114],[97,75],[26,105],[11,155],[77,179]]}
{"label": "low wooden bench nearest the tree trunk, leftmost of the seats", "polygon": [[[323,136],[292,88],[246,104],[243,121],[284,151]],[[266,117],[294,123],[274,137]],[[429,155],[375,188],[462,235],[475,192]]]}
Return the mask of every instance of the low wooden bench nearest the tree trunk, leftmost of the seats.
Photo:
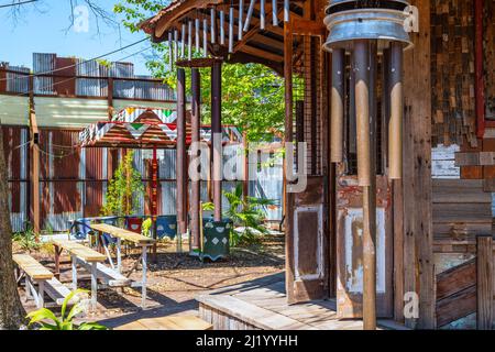
{"label": "low wooden bench nearest the tree trunk, leftmost of the seats", "polygon": [[[37,308],[45,306],[45,293],[54,300],[55,305],[62,306],[64,304],[70,290],[56,279],[51,271],[28,254],[14,254],[13,261],[25,274],[26,298],[34,297]],[[37,283],[37,292],[34,288],[33,282]],[[77,298],[74,298],[69,301],[69,305],[76,301]]]}

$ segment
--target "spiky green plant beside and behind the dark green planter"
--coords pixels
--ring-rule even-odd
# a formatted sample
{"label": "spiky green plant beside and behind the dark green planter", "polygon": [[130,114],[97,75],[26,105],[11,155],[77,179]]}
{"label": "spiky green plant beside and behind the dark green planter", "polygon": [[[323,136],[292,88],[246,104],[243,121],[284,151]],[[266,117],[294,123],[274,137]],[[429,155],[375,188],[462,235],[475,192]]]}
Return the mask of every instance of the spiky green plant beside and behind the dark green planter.
{"label": "spiky green plant beside and behind the dark green planter", "polygon": [[231,219],[234,227],[244,227],[242,232],[232,231],[230,240],[232,246],[254,242],[256,235],[252,230],[264,234],[268,233],[263,226],[263,219],[265,218],[263,207],[275,205],[274,200],[255,197],[246,197],[244,199],[242,184],[238,184],[232,191],[223,191],[223,195],[229,200],[229,209],[223,216]]}

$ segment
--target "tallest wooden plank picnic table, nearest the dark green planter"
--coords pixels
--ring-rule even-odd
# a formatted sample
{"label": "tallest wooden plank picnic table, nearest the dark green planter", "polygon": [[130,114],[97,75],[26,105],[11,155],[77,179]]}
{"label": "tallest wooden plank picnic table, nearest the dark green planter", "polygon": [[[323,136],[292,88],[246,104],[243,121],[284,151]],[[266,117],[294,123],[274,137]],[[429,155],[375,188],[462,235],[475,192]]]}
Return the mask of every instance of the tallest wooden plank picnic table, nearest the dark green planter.
{"label": "tallest wooden plank picnic table, nearest the dark green planter", "polygon": [[[113,227],[107,223],[95,223],[89,226],[91,230],[98,232],[100,237],[103,233],[109,234],[110,237],[117,239],[117,272],[121,273],[122,270],[122,241],[128,241],[133,243],[136,246],[141,246],[141,260],[142,260],[142,280],[141,283],[136,283],[135,286],[141,286],[141,307],[146,307],[146,270],[147,270],[147,248],[155,243],[155,240],[147,238],[145,235],[124,230],[121,228]],[[112,268],[116,268],[113,264],[113,260],[110,255],[110,251],[108,249],[108,243],[106,241],[100,241],[103,244],[105,251],[107,253],[108,261]]]}

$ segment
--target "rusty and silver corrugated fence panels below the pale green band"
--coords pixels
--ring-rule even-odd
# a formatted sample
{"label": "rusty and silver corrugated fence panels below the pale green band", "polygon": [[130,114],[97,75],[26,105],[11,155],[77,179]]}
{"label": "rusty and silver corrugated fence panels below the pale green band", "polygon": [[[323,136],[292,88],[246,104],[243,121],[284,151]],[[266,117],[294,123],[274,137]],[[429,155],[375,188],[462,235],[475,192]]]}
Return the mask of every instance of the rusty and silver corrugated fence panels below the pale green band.
{"label": "rusty and silver corrugated fence panels below the pale green band", "polygon": [[[2,127],[3,147],[9,169],[11,221],[14,231],[24,229],[30,212],[30,147],[29,130],[20,127]],[[107,148],[77,148],[78,130],[41,129],[40,131],[40,194],[41,223],[45,230],[66,231],[68,221],[80,217],[98,216],[108,186]],[[224,148],[226,160],[239,145]],[[117,153],[114,153],[117,156]],[[143,175],[148,190],[151,151],[136,150],[134,166]],[[174,215],[176,206],[175,150],[158,151],[160,190],[158,212]],[[282,199],[282,163],[263,165],[256,172],[257,179],[250,183],[250,195]],[[114,163],[117,165],[117,162]],[[239,167],[239,166],[238,166]],[[241,169],[241,168],[239,168]],[[224,190],[232,190],[239,180],[223,182]],[[201,184],[201,199],[208,201],[207,183]],[[140,199],[140,212],[148,213],[145,198]],[[223,209],[229,204],[223,198]],[[264,209],[268,220],[282,219],[282,207]]]}

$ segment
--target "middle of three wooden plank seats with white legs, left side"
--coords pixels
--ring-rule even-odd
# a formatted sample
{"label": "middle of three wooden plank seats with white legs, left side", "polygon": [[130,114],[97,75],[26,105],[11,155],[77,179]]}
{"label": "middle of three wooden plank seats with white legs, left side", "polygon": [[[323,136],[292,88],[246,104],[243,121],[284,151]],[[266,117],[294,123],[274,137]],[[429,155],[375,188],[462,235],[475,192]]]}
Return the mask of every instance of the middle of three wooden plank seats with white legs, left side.
{"label": "middle of three wooden plank seats with white legs, left side", "polygon": [[95,310],[97,307],[97,292],[98,292],[98,264],[103,263],[107,257],[86,245],[69,240],[54,240],[55,248],[55,275],[59,277],[61,274],[61,253],[63,250],[70,254],[73,263],[73,289],[77,288],[77,264],[86,263],[87,270],[91,274],[91,307]]}

